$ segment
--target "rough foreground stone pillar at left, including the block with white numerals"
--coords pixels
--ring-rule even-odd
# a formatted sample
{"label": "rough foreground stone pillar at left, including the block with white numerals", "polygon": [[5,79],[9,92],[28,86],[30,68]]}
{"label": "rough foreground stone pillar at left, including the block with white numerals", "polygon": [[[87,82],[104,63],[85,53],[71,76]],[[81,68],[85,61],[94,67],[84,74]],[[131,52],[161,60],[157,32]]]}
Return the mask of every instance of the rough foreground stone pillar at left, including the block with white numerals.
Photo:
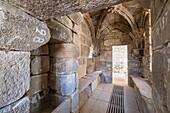
{"label": "rough foreground stone pillar at left, including the block with white numerals", "polygon": [[29,113],[29,51],[49,41],[49,29],[17,7],[0,9],[0,113]]}

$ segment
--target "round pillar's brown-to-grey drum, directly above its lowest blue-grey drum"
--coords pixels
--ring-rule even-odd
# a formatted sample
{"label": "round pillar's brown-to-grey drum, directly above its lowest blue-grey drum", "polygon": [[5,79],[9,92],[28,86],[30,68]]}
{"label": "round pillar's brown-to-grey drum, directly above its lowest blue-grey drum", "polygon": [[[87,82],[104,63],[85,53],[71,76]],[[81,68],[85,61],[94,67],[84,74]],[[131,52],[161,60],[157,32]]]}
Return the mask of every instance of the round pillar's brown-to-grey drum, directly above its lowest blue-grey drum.
{"label": "round pillar's brown-to-grey drum, directly above its lowest blue-grey drum", "polygon": [[78,69],[78,60],[76,58],[51,58],[50,72],[58,74],[74,73]]}

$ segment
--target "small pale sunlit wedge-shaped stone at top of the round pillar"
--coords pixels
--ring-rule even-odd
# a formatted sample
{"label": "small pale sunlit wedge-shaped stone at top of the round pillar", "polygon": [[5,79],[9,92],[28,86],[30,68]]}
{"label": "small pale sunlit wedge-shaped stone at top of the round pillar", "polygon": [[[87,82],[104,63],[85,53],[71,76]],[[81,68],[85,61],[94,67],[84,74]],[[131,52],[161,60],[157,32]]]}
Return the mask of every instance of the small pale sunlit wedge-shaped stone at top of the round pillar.
{"label": "small pale sunlit wedge-shaped stone at top of the round pillar", "polygon": [[69,29],[73,29],[73,23],[67,16],[55,17],[55,19],[61,22],[66,27],[68,27]]}

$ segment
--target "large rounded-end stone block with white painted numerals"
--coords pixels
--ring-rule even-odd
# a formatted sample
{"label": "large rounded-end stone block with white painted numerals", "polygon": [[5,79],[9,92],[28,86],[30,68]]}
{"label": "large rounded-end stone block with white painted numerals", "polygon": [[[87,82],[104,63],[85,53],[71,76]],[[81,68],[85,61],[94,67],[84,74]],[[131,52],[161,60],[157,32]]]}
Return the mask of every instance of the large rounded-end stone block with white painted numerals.
{"label": "large rounded-end stone block with white painted numerals", "polygon": [[46,24],[22,10],[0,2],[0,48],[33,50],[50,39]]}

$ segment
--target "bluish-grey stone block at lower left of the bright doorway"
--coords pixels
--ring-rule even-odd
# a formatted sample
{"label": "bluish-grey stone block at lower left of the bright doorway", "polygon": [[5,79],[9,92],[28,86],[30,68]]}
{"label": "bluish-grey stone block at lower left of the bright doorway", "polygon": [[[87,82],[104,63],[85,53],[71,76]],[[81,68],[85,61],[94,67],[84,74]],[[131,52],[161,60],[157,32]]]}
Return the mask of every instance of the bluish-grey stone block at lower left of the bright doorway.
{"label": "bluish-grey stone block at lower left of the bright doorway", "polygon": [[101,74],[101,82],[112,83],[112,71],[103,71]]}

